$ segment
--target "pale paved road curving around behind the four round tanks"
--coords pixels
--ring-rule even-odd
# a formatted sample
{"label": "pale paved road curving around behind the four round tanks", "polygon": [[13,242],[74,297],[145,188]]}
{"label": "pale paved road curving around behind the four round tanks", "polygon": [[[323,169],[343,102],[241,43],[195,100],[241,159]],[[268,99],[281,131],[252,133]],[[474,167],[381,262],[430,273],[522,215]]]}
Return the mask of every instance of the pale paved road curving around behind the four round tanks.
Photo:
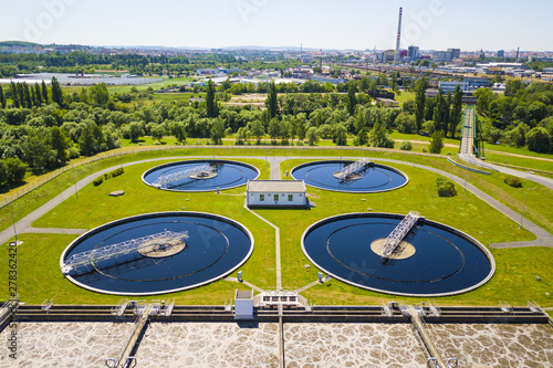
{"label": "pale paved road curving around behind the four round tanks", "polygon": [[[163,161],[163,160],[201,159],[201,158],[212,159],[212,156],[178,156],[178,157],[150,158],[150,159],[144,159],[144,160],[138,160],[138,161],[123,164],[123,167],[128,167],[128,166],[138,165],[138,164],[146,164],[146,162]],[[223,156],[223,157],[218,157],[218,158],[226,158],[226,159],[260,159],[260,160],[264,160],[265,159],[264,156]],[[371,158],[371,157],[366,157],[366,158]],[[290,159],[324,160],[324,159],[336,159],[336,157],[335,156],[331,156],[331,157],[321,157],[321,156],[315,156],[315,157],[313,157],[313,156],[300,156],[300,157],[298,157],[298,156],[290,156],[290,157],[289,156],[274,156],[274,157],[268,157],[268,160],[271,164],[271,179],[273,178],[273,176],[279,176],[279,179],[280,179],[280,164],[282,161],[290,160]],[[358,159],[358,157],[347,157],[347,158],[344,157],[344,159]],[[419,169],[429,170],[429,171],[436,172],[438,175],[445,176],[445,177],[453,180],[455,182],[457,182],[460,186],[463,186],[463,183],[465,183],[465,180],[462,178],[457,177],[457,176],[455,176],[452,174],[449,174],[447,171],[429,167],[429,166],[413,164],[413,162],[408,162],[408,161],[394,160],[394,159],[385,159],[385,158],[375,158],[375,160],[376,161],[383,161],[383,162],[393,162],[393,164],[400,164],[400,165],[414,166],[414,167],[417,167]],[[85,177],[84,179],[81,179],[76,183],[76,189],[80,190],[80,189],[84,188],[86,185],[88,185],[90,182],[92,182],[98,176],[101,176],[101,175],[103,175],[105,172],[109,172],[109,171],[118,168],[119,166],[121,165],[117,165],[117,166],[114,166],[114,167],[111,167],[111,168],[97,171],[95,174],[92,174],[92,175]],[[273,170],[273,168],[274,168],[274,170]],[[535,176],[535,177],[538,177],[538,176]],[[543,177],[539,177],[539,178],[543,178]],[[547,178],[543,178],[543,179],[546,179],[546,180],[544,180],[544,182],[549,182],[549,180],[550,180]],[[553,186],[553,183],[552,183],[552,186]],[[547,187],[550,187],[550,186],[547,186]],[[491,207],[493,207],[498,211],[502,212],[504,215],[509,217],[511,220],[515,221],[517,223],[520,222],[520,219],[521,219],[521,214],[520,213],[511,210],[507,206],[504,206],[501,202],[499,202],[498,200],[493,199],[491,196],[488,196],[482,190],[476,188],[474,186],[472,186],[469,182],[467,182],[467,190],[469,190],[470,192],[472,192],[474,196],[477,196],[478,198],[480,198],[481,200],[483,200],[484,202],[487,202],[488,204],[490,204]],[[71,196],[74,196],[74,193],[75,193],[75,188],[74,188],[74,186],[72,186],[71,188],[64,190],[62,193],[60,193],[59,196],[56,196],[55,198],[53,198],[52,200],[50,200],[45,204],[41,206],[40,208],[38,208],[36,210],[34,210],[33,212],[31,212],[30,214],[28,214],[23,219],[19,220],[15,223],[15,228],[18,230],[18,233],[25,233],[28,230],[32,229],[31,224],[34,221],[36,221],[38,219],[40,219],[41,217],[43,217],[45,213],[48,213],[54,207],[56,207],[58,204],[60,204],[61,202],[63,202],[65,199],[70,198]],[[525,241],[525,242],[512,242],[512,243],[490,244],[490,246],[492,246],[492,248],[519,248],[519,246],[551,246],[551,248],[553,248],[553,235],[551,233],[549,233],[547,231],[545,231],[544,229],[540,228],[539,225],[536,225],[535,223],[533,223],[532,221],[530,221],[528,219],[523,220],[522,225],[526,230],[529,230],[530,232],[532,232],[533,234],[535,234],[535,236],[538,239],[533,240],[533,241]],[[2,232],[0,232],[0,244],[3,244],[6,242],[8,242],[12,238],[13,238],[13,228],[10,227],[10,228],[3,230]]]}

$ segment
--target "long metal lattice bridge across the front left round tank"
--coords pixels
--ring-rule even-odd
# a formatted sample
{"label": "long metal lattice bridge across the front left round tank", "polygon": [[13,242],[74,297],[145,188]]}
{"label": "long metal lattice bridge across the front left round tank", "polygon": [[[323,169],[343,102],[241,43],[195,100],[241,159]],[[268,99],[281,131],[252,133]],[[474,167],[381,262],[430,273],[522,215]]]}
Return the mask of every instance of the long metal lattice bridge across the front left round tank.
{"label": "long metal lattice bridge across the front left round tank", "polygon": [[188,231],[164,231],[143,238],[131,239],[121,243],[97,248],[92,251],[81,252],[70,256],[62,265],[64,275],[88,273],[96,267],[108,267],[116,264],[131,262],[143,257],[142,249],[155,245],[171,244],[188,241]]}

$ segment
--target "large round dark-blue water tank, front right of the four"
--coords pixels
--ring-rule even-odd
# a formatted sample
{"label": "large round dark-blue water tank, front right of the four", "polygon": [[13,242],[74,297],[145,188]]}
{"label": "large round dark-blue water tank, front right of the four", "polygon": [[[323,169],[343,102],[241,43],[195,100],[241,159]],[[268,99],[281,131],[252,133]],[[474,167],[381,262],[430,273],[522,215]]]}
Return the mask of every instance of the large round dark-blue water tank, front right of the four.
{"label": "large round dark-blue water tank, front right of the four", "polygon": [[405,238],[404,252],[383,257],[378,242],[403,218],[392,213],[327,218],[305,230],[302,249],[311,262],[334,278],[387,294],[455,295],[492,277],[495,263],[484,245],[457,229],[424,218]]}

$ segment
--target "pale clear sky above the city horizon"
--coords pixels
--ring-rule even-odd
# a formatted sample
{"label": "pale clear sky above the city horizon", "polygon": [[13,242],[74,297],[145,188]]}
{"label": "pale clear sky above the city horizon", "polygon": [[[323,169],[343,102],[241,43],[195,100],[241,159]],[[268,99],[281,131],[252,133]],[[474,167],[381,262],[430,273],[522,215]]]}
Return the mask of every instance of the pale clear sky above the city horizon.
{"label": "pale clear sky above the city horizon", "polygon": [[551,0],[2,0],[0,39],[93,45],[553,50]]}

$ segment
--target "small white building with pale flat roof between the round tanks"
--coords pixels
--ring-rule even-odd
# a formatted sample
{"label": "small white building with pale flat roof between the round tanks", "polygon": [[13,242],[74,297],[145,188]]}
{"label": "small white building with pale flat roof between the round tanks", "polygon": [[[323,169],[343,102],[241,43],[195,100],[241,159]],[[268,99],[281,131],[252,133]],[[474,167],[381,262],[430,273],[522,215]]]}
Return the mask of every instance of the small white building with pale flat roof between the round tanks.
{"label": "small white building with pale flat roof between the round tanks", "polygon": [[249,180],[248,207],[307,207],[303,180]]}

